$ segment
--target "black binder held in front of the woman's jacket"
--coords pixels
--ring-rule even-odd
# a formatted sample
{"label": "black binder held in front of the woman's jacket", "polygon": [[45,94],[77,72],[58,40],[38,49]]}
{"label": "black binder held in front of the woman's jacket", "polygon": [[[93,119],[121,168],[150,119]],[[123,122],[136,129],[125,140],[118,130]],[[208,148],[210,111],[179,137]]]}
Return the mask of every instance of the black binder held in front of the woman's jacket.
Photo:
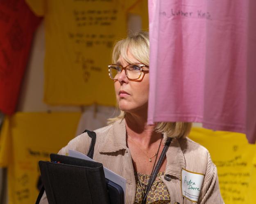
{"label": "black binder held in front of the woman's jacket", "polygon": [[39,162],[49,204],[123,204],[122,188],[105,179],[101,163],[58,154]]}

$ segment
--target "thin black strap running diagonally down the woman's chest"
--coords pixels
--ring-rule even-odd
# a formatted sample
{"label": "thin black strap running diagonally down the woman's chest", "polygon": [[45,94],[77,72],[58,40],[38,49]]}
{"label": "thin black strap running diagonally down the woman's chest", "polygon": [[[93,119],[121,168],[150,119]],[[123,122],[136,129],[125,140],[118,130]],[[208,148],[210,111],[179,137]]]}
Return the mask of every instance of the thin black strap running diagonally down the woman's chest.
{"label": "thin black strap running diagonally down the woman's chest", "polygon": [[165,154],[166,154],[166,152],[168,150],[168,147],[170,146],[171,142],[172,142],[172,138],[168,137],[167,141],[165,143],[165,146],[163,148],[163,151],[162,151],[162,153],[161,153],[161,155],[159,157],[159,160],[158,160],[158,162],[156,164],[156,167],[155,167],[153,173],[150,176],[150,180],[148,181],[148,184],[147,184],[147,190],[146,190],[145,196],[144,196],[141,204],[145,204],[147,202],[147,194],[150,192],[151,186],[154,183],[154,180],[156,179],[156,176],[157,176],[157,174],[159,172],[160,166],[163,163],[163,159],[165,157]]}

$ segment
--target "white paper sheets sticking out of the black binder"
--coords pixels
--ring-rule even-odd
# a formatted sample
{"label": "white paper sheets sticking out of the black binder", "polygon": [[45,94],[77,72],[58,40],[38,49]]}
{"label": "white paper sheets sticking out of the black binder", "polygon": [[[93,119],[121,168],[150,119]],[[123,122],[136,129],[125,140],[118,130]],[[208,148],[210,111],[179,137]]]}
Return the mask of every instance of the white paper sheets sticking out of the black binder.
{"label": "white paper sheets sticking out of the black binder", "polygon": [[[71,149],[68,150],[68,156],[95,162],[87,155],[85,155],[81,152],[75,151],[75,150],[71,150]],[[124,199],[125,199],[126,179],[124,177],[114,173],[113,171],[107,169],[104,166],[103,166],[103,170],[104,170],[105,178],[107,178],[108,180],[111,180],[112,182],[114,182],[122,187],[122,189],[124,191]]]}

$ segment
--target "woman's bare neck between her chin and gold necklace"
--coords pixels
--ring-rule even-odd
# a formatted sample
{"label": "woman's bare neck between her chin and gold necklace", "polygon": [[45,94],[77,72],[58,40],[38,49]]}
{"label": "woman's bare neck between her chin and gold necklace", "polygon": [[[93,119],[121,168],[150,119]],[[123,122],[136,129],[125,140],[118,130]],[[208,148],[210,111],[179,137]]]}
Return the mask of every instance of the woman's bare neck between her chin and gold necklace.
{"label": "woman's bare neck between her chin and gold necklace", "polygon": [[127,135],[146,149],[162,137],[161,133],[154,131],[155,125],[147,124],[147,115],[126,113],[125,123]]}

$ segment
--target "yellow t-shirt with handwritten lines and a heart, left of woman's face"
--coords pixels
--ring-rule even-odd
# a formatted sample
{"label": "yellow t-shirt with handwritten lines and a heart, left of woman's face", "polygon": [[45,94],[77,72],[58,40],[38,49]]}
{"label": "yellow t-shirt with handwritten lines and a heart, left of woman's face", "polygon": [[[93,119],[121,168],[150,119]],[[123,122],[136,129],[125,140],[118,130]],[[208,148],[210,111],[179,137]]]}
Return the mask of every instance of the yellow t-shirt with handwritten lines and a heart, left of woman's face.
{"label": "yellow t-shirt with handwritten lines and a heart, left of woman's face", "polygon": [[26,1],[45,18],[45,102],[115,106],[107,65],[136,0]]}

